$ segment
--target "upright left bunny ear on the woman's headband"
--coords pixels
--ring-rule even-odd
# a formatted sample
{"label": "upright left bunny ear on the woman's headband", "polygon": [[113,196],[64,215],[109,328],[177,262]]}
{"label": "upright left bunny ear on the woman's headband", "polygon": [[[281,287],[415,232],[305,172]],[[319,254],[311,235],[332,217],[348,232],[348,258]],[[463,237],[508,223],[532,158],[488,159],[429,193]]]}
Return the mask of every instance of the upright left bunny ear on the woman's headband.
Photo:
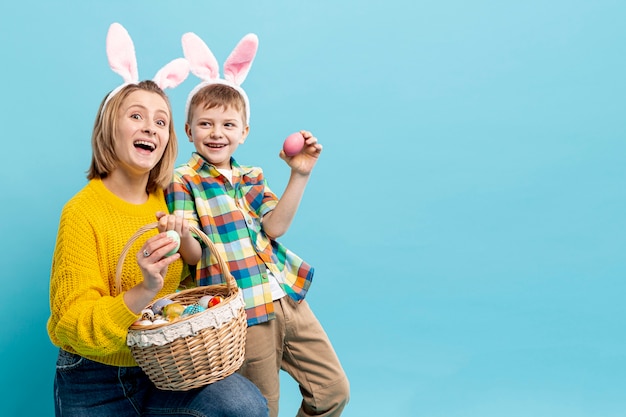
{"label": "upright left bunny ear on the woman's headband", "polygon": [[107,34],[107,57],[111,69],[122,76],[124,82],[137,82],[137,58],[130,35],[119,23],[113,23]]}

